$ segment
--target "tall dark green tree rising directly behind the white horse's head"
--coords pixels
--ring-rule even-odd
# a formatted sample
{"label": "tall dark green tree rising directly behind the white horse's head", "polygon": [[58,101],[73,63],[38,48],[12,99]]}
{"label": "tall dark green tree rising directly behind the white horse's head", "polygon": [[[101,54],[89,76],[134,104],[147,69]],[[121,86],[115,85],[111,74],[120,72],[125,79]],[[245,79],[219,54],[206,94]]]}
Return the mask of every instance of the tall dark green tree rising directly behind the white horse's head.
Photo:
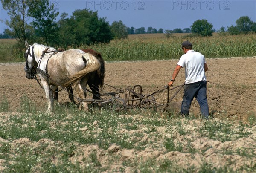
{"label": "tall dark green tree rising directly behind the white horse's head", "polygon": [[58,27],[55,20],[59,12],[54,9],[54,3],[50,5],[49,0],[32,0],[29,5],[28,15],[33,17],[36,35],[43,38],[47,45],[56,43]]}

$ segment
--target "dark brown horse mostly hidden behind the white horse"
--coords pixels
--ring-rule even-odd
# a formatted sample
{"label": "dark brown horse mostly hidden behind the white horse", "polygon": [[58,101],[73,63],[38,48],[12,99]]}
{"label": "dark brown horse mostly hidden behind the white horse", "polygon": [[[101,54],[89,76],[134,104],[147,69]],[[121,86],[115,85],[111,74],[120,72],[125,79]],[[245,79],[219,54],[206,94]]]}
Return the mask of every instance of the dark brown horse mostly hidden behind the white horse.
{"label": "dark brown horse mostly hidden behind the white horse", "polygon": [[[90,72],[90,76],[87,82],[91,91],[93,92],[93,99],[100,99],[99,88],[100,89],[104,88],[105,62],[102,58],[102,55],[99,52],[96,52],[93,49],[81,49],[81,50],[84,51],[85,53],[90,53],[91,55],[95,56],[100,62],[99,69],[96,71]],[[76,104],[76,102],[74,101],[72,87],[67,87],[67,90],[69,91],[70,101]],[[55,90],[53,97],[55,100],[58,101],[58,88]]]}

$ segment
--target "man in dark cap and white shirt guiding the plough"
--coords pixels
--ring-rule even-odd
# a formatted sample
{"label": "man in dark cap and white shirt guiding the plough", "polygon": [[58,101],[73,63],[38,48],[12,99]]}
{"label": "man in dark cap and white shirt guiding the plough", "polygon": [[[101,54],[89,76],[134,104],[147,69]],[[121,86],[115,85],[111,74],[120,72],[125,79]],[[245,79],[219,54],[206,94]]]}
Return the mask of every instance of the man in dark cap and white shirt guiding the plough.
{"label": "man in dark cap and white shirt guiding the plough", "polygon": [[204,118],[209,119],[205,76],[208,67],[204,55],[192,50],[192,44],[189,41],[184,41],[181,48],[183,49],[184,55],[180,57],[180,61],[177,63],[168,86],[172,86],[180,69],[184,67],[186,80],[183,101],[181,104],[181,115],[185,115],[186,117],[189,115],[189,108],[195,97],[200,105],[201,114]]}

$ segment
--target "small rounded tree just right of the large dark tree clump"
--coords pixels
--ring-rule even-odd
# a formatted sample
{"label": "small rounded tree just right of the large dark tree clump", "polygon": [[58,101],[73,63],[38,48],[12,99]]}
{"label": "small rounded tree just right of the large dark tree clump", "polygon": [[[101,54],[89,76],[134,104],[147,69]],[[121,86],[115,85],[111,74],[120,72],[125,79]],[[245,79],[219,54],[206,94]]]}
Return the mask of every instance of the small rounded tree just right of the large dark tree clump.
{"label": "small rounded tree just right of the large dark tree clump", "polygon": [[111,25],[111,33],[117,39],[125,39],[128,37],[128,28],[121,20],[114,21]]}

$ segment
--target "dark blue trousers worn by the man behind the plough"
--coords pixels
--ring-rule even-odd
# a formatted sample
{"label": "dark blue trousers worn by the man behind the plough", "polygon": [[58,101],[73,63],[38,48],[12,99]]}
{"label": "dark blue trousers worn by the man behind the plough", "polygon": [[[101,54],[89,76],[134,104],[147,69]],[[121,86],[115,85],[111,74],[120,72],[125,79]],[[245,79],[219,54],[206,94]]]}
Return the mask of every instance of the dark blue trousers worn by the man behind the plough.
{"label": "dark blue trousers worn by the man behind the plough", "polygon": [[209,107],[206,95],[206,81],[198,81],[192,84],[184,85],[184,96],[181,104],[181,115],[189,115],[189,108],[194,97],[200,105],[201,115],[203,115],[204,118],[209,119]]}

